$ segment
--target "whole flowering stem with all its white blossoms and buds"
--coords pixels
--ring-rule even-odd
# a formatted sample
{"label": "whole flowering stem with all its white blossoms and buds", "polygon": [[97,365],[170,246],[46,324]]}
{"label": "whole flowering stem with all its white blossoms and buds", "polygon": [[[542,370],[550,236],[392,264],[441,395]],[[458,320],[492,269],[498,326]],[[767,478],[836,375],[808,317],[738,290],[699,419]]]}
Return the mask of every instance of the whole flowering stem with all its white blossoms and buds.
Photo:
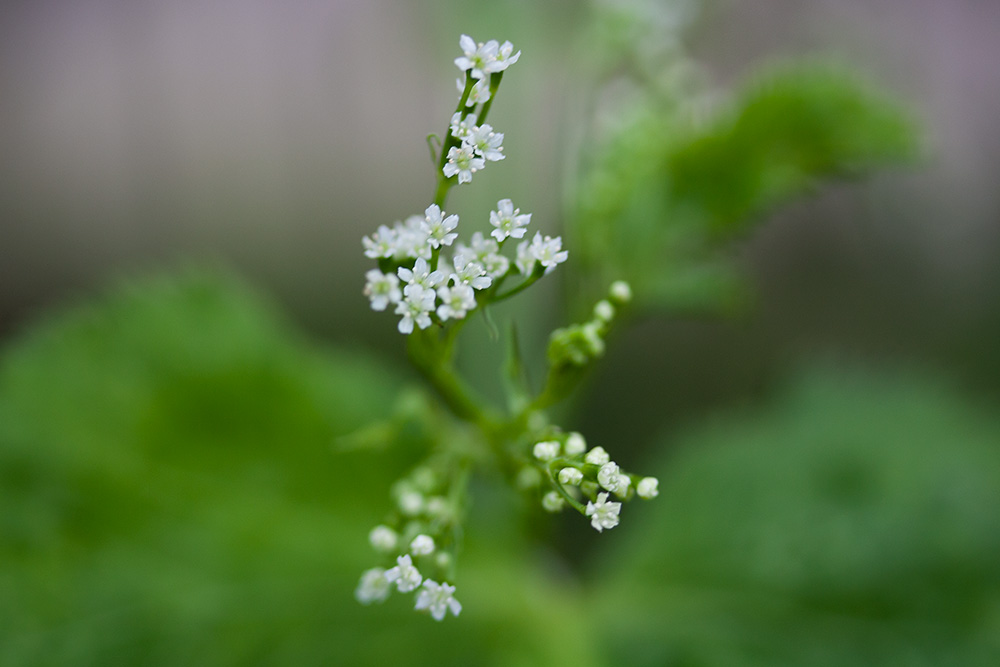
{"label": "whole flowering stem with all its white blossoms and buds", "polygon": [[[411,360],[456,416],[479,427],[505,467],[519,470],[513,475],[518,487],[539,493],[545,510],[568,505],[603,532],[618,525],[623,501],[655,497],[657,480],[625,472],[603,448],[588,449],[579,433],[549,425],[544,408],[563,398],[603,354],[616,306],[631,299],[629,286],[614,283],[590,321],[552,333],[545,387],[534,399],[523,388],[510,401],[519,407],[509,417],[478,405],[452,370],[455,334],[465,321],[527,289],[569,257],[559,236],[531,229],[531,213],[510,199],[500,199],[488,215],[461,229],[459,217],[443,210],[452,186],[471,183],[487,163],[506,158],[504,135],[485,121],[504,72],[521,55],[510,42],[477,43],[467,35],[459,45],[463,55],[455,64],[465,79],[458,81],[458,105],[434,157],[434,200],[423,214],[381,225],[362,239],[365,255],[377,262],[365,274],[364,294],[373,310],[398,316]],[[519,359],[513,361],[516,367]],[[448,582],[455,580],[471,459],[445,450],[393,487],[393,510],[369,534],[382,562],[363,573],[355,590],[359,602],[382,602],[395,591],[414,593],[415,608],[439,621],[461,612]]]}

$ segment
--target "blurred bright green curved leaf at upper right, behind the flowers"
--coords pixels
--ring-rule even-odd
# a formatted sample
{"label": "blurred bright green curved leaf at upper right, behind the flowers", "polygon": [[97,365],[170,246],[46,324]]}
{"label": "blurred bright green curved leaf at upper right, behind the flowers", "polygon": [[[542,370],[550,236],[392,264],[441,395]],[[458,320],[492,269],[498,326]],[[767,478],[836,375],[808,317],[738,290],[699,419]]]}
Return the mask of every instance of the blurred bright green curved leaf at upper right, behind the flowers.
{"label": "blurred bright green curved leaf at upper right, behind the flowers", "polygon": [[646,303],[725,309],[742,289],[726,241],[822,179],[915,153],[901,109],[832,66],[765,71],[721,104],[704,91],[699,102],[686,65],[672,68],[584,155],[574,248],[596,291],[624,278]]}

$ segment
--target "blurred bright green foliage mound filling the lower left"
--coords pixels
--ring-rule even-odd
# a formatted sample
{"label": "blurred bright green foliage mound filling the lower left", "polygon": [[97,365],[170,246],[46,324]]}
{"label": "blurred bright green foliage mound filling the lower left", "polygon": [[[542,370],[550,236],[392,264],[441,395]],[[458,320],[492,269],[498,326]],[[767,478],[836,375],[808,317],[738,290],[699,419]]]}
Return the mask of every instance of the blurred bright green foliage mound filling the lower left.
{"label": "blurred bright green foliage mound filling the lower left", "polygon": [[333,443],[398,387],[213,273],[25,332],[0,364],[0,664],[524,664],[555,651],[553,628],[587,664],[509,512],[469,531],[460,623],[355,602],[367,532],[426,443]]}

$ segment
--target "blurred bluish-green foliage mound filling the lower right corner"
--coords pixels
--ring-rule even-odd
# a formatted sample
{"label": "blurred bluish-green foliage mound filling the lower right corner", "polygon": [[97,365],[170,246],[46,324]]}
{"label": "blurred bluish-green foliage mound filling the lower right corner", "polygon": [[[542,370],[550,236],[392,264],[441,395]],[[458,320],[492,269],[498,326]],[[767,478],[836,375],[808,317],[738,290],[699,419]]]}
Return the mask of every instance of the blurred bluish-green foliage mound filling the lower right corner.
{"label": "blurred bluish-green foliage mound filling the lower right corner", "polygon": [[917,376],[823,372],[681,441],[596,568],[608,656],[1000,664],[995,413]]}

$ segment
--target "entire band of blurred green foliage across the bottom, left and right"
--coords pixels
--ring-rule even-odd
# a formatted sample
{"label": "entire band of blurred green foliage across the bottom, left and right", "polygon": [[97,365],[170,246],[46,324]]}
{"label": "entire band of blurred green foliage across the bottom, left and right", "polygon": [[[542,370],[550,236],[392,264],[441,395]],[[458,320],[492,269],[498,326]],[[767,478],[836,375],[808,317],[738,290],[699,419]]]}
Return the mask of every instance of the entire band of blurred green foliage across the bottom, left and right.
{"label": "entire band of blurred green foliage across the bottom, left and right", "polygon": [[439,624],[352,596],[426,443],[332,443],[397,375],[231,278],[135,283],[4,352],[0,664],[996,664],[1000,423],[911,380],[690,434],[614,533],[575,519],[584,586],[478,485]]}

